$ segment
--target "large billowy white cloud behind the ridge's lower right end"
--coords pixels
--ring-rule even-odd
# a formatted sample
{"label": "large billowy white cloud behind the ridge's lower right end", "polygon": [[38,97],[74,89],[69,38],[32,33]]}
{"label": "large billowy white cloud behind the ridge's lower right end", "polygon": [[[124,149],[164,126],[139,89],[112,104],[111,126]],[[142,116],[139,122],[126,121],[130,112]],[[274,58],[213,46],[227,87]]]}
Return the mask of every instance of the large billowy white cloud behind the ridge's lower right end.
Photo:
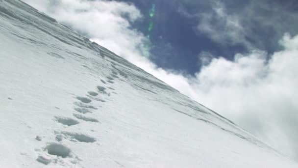
{"label": "large billowy white cloud behind the ridge's lower right end", "polygon": [[[195,99],[233,119],[279,150],[297,157],[298,36],[285,34],[284,50],[213,58],[196,74]],[[291,122],[290,122],[291,121]]]}

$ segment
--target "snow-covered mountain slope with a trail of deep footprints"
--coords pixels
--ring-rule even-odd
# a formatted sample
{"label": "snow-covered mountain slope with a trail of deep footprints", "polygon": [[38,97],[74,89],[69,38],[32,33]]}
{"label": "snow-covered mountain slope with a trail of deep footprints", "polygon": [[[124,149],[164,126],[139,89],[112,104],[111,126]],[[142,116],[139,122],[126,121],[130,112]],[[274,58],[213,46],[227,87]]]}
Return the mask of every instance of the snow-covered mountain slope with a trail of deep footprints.
{"label": "snow-covered mountain slope with a trail of deep footprints", "polygon": [[19,0],[0,0],[1,168],[297,168]]}

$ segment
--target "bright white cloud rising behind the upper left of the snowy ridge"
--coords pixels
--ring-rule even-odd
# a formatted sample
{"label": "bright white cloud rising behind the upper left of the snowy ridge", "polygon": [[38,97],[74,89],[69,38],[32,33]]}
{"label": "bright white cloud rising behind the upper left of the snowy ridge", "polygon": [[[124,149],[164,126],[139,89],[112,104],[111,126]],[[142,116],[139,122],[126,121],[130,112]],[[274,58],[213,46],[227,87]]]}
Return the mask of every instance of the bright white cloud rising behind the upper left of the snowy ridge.
{"label": "bright white cloud rising behind the upper left of the snowy ridge", "polygon": [[25,2],[59,22],[86,33],[93,41],[118,55],[126,58],[131,55],[148,55],[146,47],[142,46],[147,38],[130,26],[130,22],[142,18],[140,11],[133,4],[107,0],[25,0]]}

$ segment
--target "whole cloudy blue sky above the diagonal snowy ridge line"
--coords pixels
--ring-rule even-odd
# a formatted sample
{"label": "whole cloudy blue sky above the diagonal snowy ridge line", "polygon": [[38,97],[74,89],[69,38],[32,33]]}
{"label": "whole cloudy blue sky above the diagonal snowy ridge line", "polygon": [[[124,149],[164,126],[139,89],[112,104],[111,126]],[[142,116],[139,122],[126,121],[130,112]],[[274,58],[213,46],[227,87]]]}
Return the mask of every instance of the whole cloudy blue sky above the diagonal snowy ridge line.
{"label": "whole cloudy blue sky above the diagonal snowy ridge line", "polygon": [[24,0],[298,161],[297,0]]}

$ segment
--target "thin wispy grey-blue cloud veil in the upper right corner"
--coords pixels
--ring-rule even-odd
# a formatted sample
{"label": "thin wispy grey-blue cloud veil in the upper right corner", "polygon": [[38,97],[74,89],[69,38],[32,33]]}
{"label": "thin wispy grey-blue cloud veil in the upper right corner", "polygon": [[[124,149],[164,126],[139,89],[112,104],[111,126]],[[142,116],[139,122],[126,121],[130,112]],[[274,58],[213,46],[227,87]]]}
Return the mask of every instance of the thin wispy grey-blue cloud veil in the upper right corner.
{"label": "thin wispy grey-blue cloud veil in the upper right corner", "polygon": [[[178,11],[197,20],[198,34],[225,47],[273,53],[285,32],[298,34],[297,0],[175,0]],[[290,25],[290,26],[289,26]]]}

